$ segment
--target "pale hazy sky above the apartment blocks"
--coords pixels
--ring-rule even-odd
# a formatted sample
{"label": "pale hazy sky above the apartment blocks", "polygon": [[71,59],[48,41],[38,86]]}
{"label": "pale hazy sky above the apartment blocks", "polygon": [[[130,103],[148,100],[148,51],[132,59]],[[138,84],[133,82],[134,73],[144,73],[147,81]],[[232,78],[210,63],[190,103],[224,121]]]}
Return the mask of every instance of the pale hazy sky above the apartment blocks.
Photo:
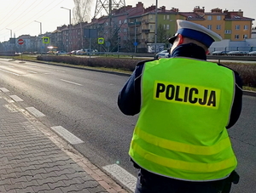
{"label": "pale hazy sky above the apartment blocks", "polygon": [[[86,6],[90,6],[90,18],[94,16],[96,1],[105,2],[107,0],[89,0]],[[109,1],[109,0],[108,0]],[[256,20],[255,0],[115,0],[113,2],[124,1],[125,5],[136,6],[142,2],[144,8],[158,3],[158,8],[166,6],[166,9],[176,8],[181,12],[193,11],[195,6],[205,7],[206,12],[211,9],[227,9],[238,11],[241,9],[243,15]],[[73,17],[73,0],[0,0],[0,42],[8,41],[9,37],[19,37],[21,35],[38,36],[40,34],[40,24],[42,33],[55,31],[57,26],[69,24],[69,11],[71,9]],[[66,9],[61,9],[64,7]],[[105,13],[102,13],[105,14]],[[253,21],[256,26],[256,21]]]}

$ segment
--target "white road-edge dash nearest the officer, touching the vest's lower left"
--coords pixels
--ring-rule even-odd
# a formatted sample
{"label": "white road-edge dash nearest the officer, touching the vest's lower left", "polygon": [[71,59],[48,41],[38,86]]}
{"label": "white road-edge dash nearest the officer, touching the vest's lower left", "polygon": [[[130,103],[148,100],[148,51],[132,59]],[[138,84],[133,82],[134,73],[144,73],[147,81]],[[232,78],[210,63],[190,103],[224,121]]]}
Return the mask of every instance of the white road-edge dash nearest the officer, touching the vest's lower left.
{"label": "white road-edge dash nearest the officer, touching the vest's lower left", "polygon": [[124,184],[132,192],[135,190],[137,178],[131,173],[128,173],[124,168],[119,167],[117,164],[104,166],[102,168],[113,175],[115,179],[118,179],[120,183]]}

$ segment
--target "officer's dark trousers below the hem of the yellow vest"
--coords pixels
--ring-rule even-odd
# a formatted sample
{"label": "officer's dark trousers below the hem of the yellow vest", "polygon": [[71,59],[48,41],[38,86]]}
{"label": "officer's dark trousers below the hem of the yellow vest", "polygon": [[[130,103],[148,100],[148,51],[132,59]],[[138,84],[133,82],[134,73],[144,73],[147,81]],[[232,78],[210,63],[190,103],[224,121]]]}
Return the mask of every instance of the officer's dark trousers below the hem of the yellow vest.
{"label": "officer's dark trousers below the hem of the yellow vest", "polygon": [[140,169],[135,193],[229,193],[231,184],[230,177],[211,182],[189,182],[162,177]]}

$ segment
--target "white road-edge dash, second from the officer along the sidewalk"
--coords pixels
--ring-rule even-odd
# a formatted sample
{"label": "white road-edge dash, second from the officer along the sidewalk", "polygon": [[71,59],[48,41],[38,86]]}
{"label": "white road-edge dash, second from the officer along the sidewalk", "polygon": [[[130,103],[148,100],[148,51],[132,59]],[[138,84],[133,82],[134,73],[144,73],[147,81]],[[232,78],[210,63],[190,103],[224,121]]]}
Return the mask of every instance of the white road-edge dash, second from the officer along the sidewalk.
{"label": "white road-edge dash, second from the officer along the sidewalk", "polygon": [[61,126],[55,126],[51,127],[56,133],[61,135],[62,138],[66,139],[70,144],[75,145],[75,144],[81,144],[84,143],[83,140],[79,139],[77,136],[75,136],[73,133],[70,133],[67,131],[66,128],[63,128]]}

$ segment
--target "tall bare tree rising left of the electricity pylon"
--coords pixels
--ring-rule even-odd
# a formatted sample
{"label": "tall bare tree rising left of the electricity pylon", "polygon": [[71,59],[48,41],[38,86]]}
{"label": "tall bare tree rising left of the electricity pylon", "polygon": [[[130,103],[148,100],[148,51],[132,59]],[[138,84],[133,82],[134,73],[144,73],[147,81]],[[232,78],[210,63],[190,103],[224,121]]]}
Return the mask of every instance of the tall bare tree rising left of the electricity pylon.
{"label": "tall bare tree rising left of the electricity pylon", "polygon": [[79,24],[90,20],[91,0],[73,0],[73,23]]}

